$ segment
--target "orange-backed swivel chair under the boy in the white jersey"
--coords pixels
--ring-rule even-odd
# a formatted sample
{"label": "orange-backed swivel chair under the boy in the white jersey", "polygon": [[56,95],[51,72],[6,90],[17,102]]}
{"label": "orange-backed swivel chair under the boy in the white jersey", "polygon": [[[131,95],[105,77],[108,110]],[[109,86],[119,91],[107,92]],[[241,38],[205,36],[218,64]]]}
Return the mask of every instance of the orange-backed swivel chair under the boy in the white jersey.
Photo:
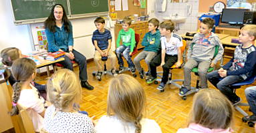
{"label": "orange-backed swivel chair under the boy in the white jersey", "polygon": [[[180,67],[177,67],[176,64],[172,65],[172,67],[170,68],[170,71],[172,71],[172,69],[176,69],[176,68],[181,68],[182,65],[184,65],[184,56],[186,54],[185,50],[186,50],[186,41],[182,40],[182,47],[181,47],[181,55],[183,57],[182,61],[181,61],[181,65]],[[159,78],[157,78],[156,80],[154,80],[154,84],[158,84],[158,82],[161,82],[162,80],[162,73],[163,72],[156,72],[156,76],[158,76]],[[181,88],[180,84],[177,84],[176,82],[183,82],[183,79],[172,79],[172,72],[169,73],[169,78],[168,81],[166,82],[166,84],[173,84],[174,86]],[[160,90],[160,92],[164,92],[163,90]]]}

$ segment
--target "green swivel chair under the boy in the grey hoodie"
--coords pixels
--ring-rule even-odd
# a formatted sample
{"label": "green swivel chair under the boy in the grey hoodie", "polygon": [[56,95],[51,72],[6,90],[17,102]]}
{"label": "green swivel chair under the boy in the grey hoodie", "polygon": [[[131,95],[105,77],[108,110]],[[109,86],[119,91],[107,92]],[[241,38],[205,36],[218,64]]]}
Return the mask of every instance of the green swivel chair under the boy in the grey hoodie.
{"label": "green swivel chair under the boy in the grey hoodie", "polygon": [[[191,47],[193,48],[194,45],[195,45],[195,43],[192,43],[192,44],[191,44]],[[213,59],[216,57],[216,55],[218,54],[218,52],[219,52],[219,46],[215,46],[215,54],[214,54],[214,56],[213,56]],[[211,71],[213,71],[214,69],[215,69],[214,67],[211,67],[211,66],[210,66],[210,67],[208,68],[207,72],[211,72]],[[188,92],[186,92],[186,94],[184,94],[184,95],[178,94],[179,96],[182,96],[182,100],[186,100],[186,96],[187,96],[187,95],[196,93],[196,92],[198,92],[198,91],[200,90],[200,88],[199,88],[200,80],[199,80],[199,68],[198,68],[198,66],[194,67],[194,68],[191,70],[191,72],[194,72],[195,75],[197,76],[197,85],[196,85],[196,87],[191,86],[191,89],[190,89]],[[180,88],[180,89],[181,89],[181,88]]]}

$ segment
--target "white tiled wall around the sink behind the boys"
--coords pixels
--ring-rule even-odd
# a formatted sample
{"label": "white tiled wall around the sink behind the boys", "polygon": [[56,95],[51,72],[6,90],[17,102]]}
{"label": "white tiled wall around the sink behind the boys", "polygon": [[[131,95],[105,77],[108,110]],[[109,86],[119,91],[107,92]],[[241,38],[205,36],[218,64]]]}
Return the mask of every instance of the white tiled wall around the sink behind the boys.
{"label": "white tiled wall around the sink behind the boys", "polygon": [[[197,15],[199,11],[198,0],[188,0],[187,3],[170,3],[167,1],[166,11],[156,12],[155,11],[156,0],[148,2],[148,14],[150,17],[156,17],[159,21],[162,21],[162,17],[169,17],[178,13],[180,16],[186,16],[186,22],[180,23],[180,30],[175,31],[178,34],[183,34],[190,31],[197,31]],[[186,15],[186,5],[192,5],[191,15]]]}

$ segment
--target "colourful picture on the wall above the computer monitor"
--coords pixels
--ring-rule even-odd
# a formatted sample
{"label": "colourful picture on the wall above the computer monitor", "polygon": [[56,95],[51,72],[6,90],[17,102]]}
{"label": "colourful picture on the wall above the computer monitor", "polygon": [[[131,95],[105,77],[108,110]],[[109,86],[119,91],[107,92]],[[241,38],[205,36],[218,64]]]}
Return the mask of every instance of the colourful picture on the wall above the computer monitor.
{"label": "colourful picture on the wall above the computer monitor", "polygon": [[250,1],[247,1],[247,0],[227,0],[227,7],[251,9],[251,3]]}

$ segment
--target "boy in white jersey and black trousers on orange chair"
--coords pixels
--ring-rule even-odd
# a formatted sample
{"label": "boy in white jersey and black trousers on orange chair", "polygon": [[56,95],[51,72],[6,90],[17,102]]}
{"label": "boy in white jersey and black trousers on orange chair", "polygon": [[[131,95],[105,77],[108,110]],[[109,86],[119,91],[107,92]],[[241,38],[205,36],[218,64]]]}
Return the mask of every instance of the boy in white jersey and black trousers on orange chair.
{"label": "boy in white jersey and black trousers on orange chair", "polygon": [[158,90],[164,90],[164,86],[168,81],[168,75],[170,71],[170,67],[176,63],[176,66],[179,67],[181,65],[181,50],[182,47],[182,38],[173,33],[174,23],[172,21],[164,21],[160,24],[160,33],[162,36],[161,41],[161,49],[162,53],[156,55],[156,57],[150,62],[150,77],[146,80],[147,84],[151,84],[156,80],[156,66],[162,66],[163,74],[162,80]]}

